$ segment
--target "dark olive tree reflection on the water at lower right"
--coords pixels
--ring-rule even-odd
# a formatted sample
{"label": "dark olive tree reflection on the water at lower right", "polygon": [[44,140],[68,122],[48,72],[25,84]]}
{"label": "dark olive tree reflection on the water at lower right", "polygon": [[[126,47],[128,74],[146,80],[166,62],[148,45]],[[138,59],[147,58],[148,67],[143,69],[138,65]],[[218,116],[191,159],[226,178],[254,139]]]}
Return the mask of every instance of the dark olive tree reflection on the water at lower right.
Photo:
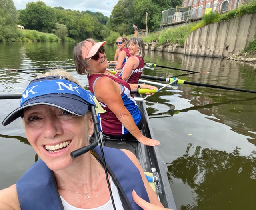
{"label": "dark olive tree reflection on the water at lower right", "polygon": [[248,190],[256,188],[255,160],[256,150],[244,157],[240,148],[227,153],[188,144],[186,153],[168,166],[170,180],[181,179],[194,195],[194,203],[184,202],[180,209],[255,209],[255,193]]}

